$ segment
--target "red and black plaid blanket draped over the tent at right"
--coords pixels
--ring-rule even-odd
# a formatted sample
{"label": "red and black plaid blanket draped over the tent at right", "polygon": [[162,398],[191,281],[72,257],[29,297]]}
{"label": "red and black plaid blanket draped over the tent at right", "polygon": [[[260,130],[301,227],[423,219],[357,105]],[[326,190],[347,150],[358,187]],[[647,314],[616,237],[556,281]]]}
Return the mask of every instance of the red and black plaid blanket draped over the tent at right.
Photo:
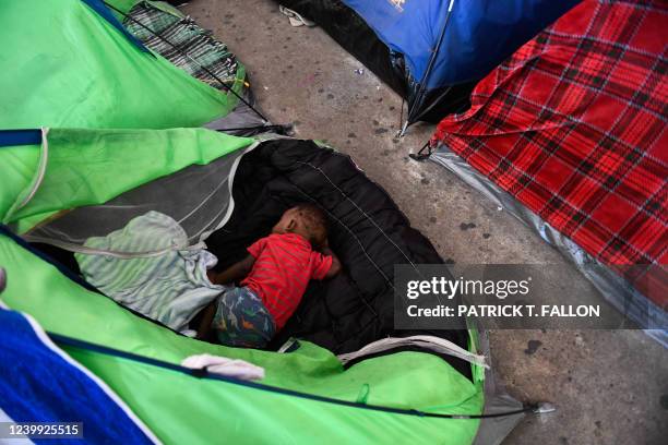
{"label": "red and black plaid blanket draped over the tent at right", "polygon": [[[442,141],[666,308],[668,3],[585,0],[475,88]],[[646,269],[653,273],[647,275]]]}

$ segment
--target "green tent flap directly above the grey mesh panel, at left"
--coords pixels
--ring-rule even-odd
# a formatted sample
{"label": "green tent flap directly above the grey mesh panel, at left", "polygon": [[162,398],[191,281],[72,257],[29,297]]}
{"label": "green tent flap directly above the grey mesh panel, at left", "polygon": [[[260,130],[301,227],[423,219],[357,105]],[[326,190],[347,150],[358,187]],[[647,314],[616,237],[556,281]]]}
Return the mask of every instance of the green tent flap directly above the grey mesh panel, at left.
{"label": "green tent flap directly above the grey mesh panel, at left", "polygon": [[[0,190],[1,220],[17,224],[17,231],[24,232],[55,212],[105,203],[252,142],[205,129],[51,130],[41,147],[0,149],[0,176],[8,183]],[[43,178],[40,163],[45,163]],[[33,197],[21,206],[35,188]]]}

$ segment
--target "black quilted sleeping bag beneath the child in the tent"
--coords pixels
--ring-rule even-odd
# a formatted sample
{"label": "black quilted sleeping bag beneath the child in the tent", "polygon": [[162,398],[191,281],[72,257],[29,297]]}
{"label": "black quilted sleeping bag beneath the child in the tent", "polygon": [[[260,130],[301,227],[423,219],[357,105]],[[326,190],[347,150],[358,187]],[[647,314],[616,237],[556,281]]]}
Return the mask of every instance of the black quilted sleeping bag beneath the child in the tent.
{"label": "black quilted sleeping bag beneath the child in the tent", "polygon": [[[467,348],[465,330],[394,329],[394,265],[442,260],[387,193],[348,156],[311,141],[262,143],[241,159],[232,196],[230,220],[206,240],[220,261],[217,269],[242,258],[246,248],[269,234],[283,212],[303,202],[318,204],[327,215],[330,245],[343,264],[343,272],[333,279],[310,282],[271,349],[296,337],[344,353],[384,337],[420,334]],[[470,376],[468,363],[444,358]]]}

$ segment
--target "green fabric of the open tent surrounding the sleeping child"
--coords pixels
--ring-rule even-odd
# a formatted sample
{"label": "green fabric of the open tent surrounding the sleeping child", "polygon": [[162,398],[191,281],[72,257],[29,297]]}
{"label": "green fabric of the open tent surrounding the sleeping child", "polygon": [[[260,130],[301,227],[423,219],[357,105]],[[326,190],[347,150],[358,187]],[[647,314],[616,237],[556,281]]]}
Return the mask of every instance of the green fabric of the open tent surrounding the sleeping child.
{"label": "green fabric of the open tent surrounding the sleeping child", "polygon": [[[104,204],[151,181],[238,157],[258,145],[262,143],[204,129],[51,130],[43,144],[0,148],[0,175],[11,185],[1,190],[0,215],[29,239],[31,231],[48,226],[59,212]],[[479,365],[472,364],[473,380],[468,380],[434,354],[406,351],[344,370],[336,356],[308,341],[299,341],[289,353],[206,344],[86,289],[8,232],[0,237],[0,265],[9,277],[2,301],[33,315],[49,333],[172,365],[207,352],[266,370],[261,385],[249,385],[196,378],[76,345],[64,347],[164,442],[295,443],[326,432],[325,442],[332,443],[396,437],[472,443],[478,430],[479,420],[431,418],[417,411],[480,413],[484,370]],[[476,349],[474,341],[470,348]]]}

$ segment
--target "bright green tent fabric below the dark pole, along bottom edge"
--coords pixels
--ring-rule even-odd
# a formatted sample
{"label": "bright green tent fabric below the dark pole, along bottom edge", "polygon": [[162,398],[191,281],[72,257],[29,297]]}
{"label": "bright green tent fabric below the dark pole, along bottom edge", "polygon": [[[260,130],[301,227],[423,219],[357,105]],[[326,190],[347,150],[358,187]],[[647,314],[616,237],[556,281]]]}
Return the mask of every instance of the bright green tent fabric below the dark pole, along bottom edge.
{"label": "bright green tent fabric below the dark pole, along bottom edge", "polygon": [[[468,444],[479,424],[478,420],[346,407],[226,382],[195,380],[87,351],[68,349],[68,352],[107,381],[124,400],[132,400],[134,412],[166,443]],[[417,386],[416,382],[405,382],[407,385]],[[460,408],[476,409],[479,401],[472,400],[469,406]]]}

